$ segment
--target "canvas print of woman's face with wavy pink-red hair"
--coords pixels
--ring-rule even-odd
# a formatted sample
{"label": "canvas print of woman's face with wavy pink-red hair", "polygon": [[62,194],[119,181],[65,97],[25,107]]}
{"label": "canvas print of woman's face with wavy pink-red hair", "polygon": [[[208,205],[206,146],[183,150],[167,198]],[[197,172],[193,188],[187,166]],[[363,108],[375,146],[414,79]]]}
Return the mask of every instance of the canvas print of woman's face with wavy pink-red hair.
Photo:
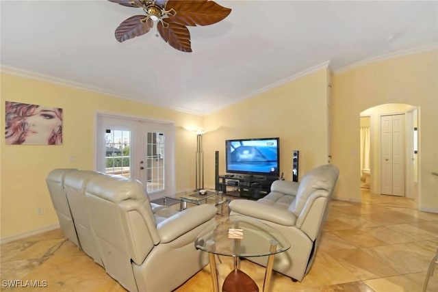
{"label": "canvas print of woman's face with wavy pink-red hair", "polygon": [[5,102],[6,144],[61,145],[62,109]]}

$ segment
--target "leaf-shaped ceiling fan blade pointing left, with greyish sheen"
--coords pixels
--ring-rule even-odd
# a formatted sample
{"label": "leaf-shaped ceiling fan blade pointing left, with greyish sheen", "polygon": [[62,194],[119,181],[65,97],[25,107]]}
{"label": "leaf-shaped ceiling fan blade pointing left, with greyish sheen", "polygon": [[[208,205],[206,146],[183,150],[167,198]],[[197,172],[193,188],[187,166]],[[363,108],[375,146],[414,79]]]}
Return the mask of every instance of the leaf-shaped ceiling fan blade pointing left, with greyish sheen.
{"label": "leaf-shaped ceiling fan blade pointing left, with greyish sheen", "polygon": [[119,42],[124,42],[136,36],[142,36],[151,30],[153,27],[153,21],[151,18],[147,18],[145,15],[136,15],[127,18],[123,23],[117,27],[115,36]]}

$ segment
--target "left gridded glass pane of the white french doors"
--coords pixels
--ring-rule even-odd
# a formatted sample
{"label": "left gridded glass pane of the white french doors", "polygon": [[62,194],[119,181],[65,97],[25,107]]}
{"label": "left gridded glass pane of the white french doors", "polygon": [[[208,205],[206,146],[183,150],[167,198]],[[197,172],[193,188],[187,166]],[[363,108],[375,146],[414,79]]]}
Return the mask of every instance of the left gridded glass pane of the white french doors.
{"label": "left gridded glass pane of the white french doors", "polygon": [[106,130],[105,173],[131,177],[131,131]]}

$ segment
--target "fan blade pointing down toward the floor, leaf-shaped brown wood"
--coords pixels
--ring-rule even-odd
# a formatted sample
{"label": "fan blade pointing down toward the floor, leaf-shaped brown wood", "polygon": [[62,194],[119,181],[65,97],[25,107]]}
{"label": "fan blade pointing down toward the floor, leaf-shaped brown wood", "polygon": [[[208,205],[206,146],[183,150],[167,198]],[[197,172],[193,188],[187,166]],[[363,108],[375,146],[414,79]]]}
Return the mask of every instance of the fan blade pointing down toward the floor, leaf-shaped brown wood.
{"label": "fan blade pointing down toward the floor, leaf-shaped brown wood", "polygon": [[163,40],[179,51],[191,52],[189,29],[185,25],[173,23],[167,18],[164,18],[163,21],[168,25],[167,27],[164,27],[161,22],[157,24],[159,35],[162,36]]}

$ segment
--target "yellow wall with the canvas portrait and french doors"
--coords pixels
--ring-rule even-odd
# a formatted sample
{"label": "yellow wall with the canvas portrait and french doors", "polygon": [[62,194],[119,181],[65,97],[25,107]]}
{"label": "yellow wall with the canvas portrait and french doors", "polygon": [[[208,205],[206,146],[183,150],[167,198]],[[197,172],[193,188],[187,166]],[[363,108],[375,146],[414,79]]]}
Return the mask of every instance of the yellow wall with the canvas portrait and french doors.
{"label": "yellow wall with the canvas portrait and french doors", "polygon": [[[136,103],[96,92],[1,73],[1,129],[4,129],[5,101],[18,101],[64,109],[62,146],[5,145],[1,137],[1,238],[57,224],[57,217],[45,185],[53,168],[94,169],[96,113],[105,111],[175,122],[176,188],[194,187],[194,133],[202,116]],[[75,161],[71,162],[70,157]],[[44,215],[37,215],[38,207]]]}

